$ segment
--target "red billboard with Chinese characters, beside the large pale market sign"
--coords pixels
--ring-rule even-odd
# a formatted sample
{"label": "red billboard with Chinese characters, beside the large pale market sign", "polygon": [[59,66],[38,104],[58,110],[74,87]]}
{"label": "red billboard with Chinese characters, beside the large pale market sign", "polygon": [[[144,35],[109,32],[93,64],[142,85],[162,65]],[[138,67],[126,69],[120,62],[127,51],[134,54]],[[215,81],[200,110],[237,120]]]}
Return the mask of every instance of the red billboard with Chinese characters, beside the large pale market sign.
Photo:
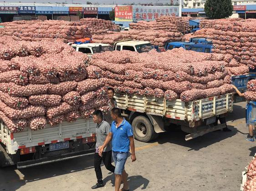
{"label": "red billboard with Chinese characters, beside the large pale market sign", "polygon": [[133,20],[133,7],[116,6],[115,7],[115,21],[132,21]]}

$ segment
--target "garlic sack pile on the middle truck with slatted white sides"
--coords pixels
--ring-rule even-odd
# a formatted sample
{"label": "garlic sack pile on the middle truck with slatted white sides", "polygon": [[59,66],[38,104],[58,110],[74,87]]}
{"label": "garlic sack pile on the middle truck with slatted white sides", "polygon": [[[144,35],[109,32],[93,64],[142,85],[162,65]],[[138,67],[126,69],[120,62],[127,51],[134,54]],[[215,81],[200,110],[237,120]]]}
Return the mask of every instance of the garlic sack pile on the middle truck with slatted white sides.
{"label": "garlic sack pile on the middle truck with slatted white sides", "polygon": [[119,93],[193,101],[233,91],[225,60],[182,48],[141,54],[123,50],[92,55],[90,70]]}

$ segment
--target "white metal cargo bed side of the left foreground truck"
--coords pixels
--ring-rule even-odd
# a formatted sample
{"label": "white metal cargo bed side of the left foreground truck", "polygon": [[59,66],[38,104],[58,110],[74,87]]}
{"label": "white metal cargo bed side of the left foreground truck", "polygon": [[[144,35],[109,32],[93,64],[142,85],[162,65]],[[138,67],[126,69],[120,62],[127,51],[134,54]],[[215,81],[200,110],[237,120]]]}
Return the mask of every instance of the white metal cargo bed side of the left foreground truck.
{"label": "white metal cargo bed side of the left foreground truck", "polygon": [[63,121],[56,126],[47,124],[45,129],[38,131],[25,128],[21,132],[11,133],[1,121],[0,142],[6,146],[7,153],[15,154],[20,148],[91,137],[95,135],[95,130],[96,125],[91,119],[79,118],[72,123]]}

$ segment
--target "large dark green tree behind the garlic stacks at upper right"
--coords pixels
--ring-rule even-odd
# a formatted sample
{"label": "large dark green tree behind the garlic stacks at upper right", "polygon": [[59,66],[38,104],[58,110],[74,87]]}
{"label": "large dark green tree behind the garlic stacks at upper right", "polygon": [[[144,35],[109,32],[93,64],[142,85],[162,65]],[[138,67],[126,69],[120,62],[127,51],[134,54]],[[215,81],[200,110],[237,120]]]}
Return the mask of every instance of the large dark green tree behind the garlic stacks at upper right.
{"label": "large dark green tree behind the garlic stacks at upper right", "polygon": [[210,19],[224,19],[233,13],[231,0],[206,0],[205,14]]}

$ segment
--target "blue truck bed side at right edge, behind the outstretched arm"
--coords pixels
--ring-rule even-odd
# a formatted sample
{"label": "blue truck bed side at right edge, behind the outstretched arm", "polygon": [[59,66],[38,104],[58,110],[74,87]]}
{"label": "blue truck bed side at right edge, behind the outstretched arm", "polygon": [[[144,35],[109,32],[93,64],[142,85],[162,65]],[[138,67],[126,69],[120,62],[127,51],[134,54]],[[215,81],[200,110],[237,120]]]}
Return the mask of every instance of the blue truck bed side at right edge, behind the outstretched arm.
{"label": "blue truck bed side at right edge, behind the outstretched arm", "polygon": [[247,83],[252,79],[256,79],[256,74],[236,75],[231,77],[232,84],[242,92],[247,90]]}

